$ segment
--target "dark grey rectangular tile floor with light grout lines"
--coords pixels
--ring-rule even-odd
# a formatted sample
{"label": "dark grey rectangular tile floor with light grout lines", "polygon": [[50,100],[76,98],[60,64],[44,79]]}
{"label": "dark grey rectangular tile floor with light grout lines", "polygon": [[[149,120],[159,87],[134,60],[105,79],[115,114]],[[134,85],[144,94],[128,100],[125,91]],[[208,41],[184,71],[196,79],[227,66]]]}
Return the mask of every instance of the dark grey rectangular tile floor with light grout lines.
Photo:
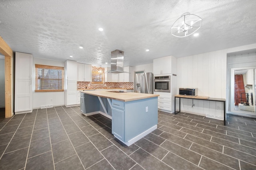
{"label": "dark grey rectangular tile floor with light grout lines", "polygon": [[159,112],[158,129],[130,147],[111,134],[111,120],[79,107],[54,107],[0,122],[1,170],[256,169],[256,119],[223,121]]}

